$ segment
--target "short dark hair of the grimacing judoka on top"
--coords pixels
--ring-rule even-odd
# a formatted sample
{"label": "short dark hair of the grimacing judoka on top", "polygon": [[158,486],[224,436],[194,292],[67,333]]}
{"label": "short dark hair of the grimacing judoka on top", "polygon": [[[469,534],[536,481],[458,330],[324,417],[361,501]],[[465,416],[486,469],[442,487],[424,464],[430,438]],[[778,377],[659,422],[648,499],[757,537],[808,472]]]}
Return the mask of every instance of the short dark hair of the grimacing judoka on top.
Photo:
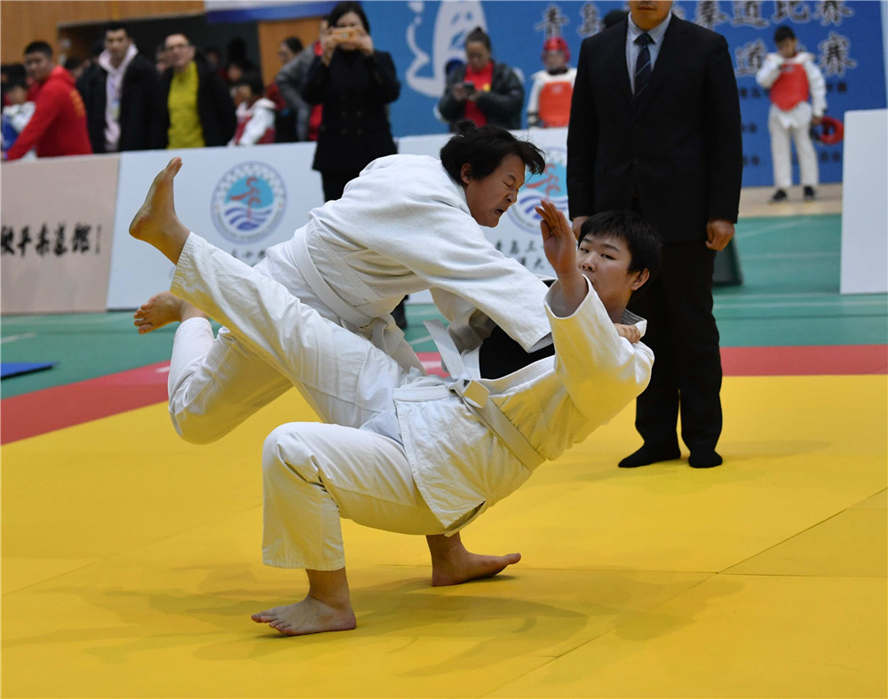
{"label": "short dark hair of the grimacing judoka on top", "polygon": [[472,179],[483,179],[509,155],[518,155],[535,175],[545,170],[543,151],[530,141],[516,139],[505,129],[490,124],[479,129],[464,121],[456,123],[456,130],[440,150],[441,164],[455,182],[462,184],[460,171],[464,164],[472,167]]}

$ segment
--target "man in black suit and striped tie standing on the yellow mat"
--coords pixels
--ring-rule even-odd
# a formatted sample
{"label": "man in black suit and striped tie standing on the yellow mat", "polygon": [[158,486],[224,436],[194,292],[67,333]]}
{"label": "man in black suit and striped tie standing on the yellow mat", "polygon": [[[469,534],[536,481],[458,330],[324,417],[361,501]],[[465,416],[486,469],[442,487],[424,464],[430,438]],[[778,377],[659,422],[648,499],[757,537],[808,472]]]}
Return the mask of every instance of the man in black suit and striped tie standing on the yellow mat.
{"label": "man in black suit and striped tie standing on the yellow mat", "polygon": [[635,210],[660,231],[659,276],[630,306],[647,319],[654,373],[638,397],[644,439],[623,468],[681,456],[722,463],[721,360],[712,315],[717,250],[740,203],[740,102],[725,38],[636,0],[629,16],[580,49],[567,131],[567,196],[575,232],[604,210]]}

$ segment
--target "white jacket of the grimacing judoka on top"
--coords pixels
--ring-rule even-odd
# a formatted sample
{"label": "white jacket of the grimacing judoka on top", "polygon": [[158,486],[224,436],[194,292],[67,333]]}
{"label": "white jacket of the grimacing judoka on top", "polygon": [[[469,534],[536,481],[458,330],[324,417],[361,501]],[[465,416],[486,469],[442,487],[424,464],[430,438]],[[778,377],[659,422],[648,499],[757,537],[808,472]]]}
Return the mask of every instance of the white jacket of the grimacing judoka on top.
{"label": "white jacket of the grimacing judoka on top", "polygon": [[[472,218],[463,187],[436,158],[375,160],[345,187],[341,199],[312,210],[309,223],[281,246],[269,256],[289,264],[295,260],[315,294],[344,324],[392,356],[392,346],[374,338],[371,322],[383,317],[391,332],[386,316],[405,295],[425,289],[432,290],[448,321],[468,319],[478,308],[528,351],[550,341],[545,284],[488,241]],[[314,270],[299,264],[306,257]],[[318,288],[324,285],[329,289]],[[338,302],[329,299],[330,291]],[[349,309],[358,317],[349,317]],[[472,323],[460,327],[457,345],[477,346]]]}

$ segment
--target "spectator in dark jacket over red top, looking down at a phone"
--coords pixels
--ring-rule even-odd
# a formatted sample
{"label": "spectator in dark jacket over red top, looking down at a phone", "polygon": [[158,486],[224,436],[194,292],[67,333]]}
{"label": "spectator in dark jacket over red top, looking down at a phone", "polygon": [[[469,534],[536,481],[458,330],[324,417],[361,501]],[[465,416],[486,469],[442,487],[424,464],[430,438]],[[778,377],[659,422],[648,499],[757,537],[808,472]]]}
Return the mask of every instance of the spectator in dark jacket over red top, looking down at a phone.
{"label": "spectator in dark jacket over red top, looking down at a phone", "polygon": [[440,115],[454,124],[469,119],[503,129],[521,128],[524,86],[515,71],[491,59],[490,37],[480,27],[465,37],[466,64],[451,71],[438,102]]}

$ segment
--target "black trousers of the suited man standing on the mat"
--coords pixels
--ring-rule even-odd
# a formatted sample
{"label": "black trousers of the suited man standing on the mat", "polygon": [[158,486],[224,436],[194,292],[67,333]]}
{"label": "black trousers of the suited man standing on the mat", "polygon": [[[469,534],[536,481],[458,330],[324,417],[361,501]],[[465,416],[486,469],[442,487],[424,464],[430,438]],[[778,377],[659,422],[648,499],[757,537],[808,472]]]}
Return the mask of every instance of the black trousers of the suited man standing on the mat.
{"label": "black trousers of the suited man standing on the mat", "polygon": [[635,426],[654,449],[715,449],[722,429],[721,355],[712,315],[715,252],[703,242],[664,242],[660,274],[630,302],[647,319],[643,342],[654,350],[651,383],[636,401]]}

